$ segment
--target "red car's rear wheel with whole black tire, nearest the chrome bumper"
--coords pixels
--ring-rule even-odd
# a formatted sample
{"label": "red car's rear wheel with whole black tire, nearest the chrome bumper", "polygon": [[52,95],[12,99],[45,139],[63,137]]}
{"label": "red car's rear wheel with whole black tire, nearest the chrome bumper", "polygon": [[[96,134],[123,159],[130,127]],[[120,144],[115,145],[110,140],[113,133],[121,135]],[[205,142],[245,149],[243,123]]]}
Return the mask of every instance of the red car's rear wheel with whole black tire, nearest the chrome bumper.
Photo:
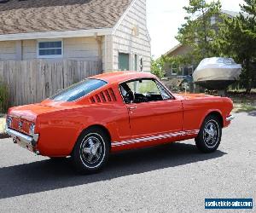
{"label": "red car's rear wheel with whole black tire, nearest the chrome bumper", "polygon": [[104,130],[90,128],[85,130],[73,148],[74,168],[81,174],[96,173],[108,161],[109,138]]}

